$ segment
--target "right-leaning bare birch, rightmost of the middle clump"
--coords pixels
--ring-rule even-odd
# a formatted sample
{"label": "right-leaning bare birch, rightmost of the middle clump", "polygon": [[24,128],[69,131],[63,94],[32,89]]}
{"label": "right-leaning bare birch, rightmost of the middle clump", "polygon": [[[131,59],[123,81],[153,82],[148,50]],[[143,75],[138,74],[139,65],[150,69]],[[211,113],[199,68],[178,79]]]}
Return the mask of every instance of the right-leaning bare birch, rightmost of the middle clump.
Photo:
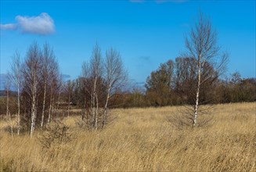
{"label": "right-leaning bare birch, rightmost of the middle clump", "polygon": [[103,128],[106,124],[109,100],[113,97],[115,91],[120,90],[121,87],[124,86],[128,79],[127,71],[124,70],[124,65],[121,60],[121,55],[113,48],[106,51],[104,67],[107,95],[103,112]]}

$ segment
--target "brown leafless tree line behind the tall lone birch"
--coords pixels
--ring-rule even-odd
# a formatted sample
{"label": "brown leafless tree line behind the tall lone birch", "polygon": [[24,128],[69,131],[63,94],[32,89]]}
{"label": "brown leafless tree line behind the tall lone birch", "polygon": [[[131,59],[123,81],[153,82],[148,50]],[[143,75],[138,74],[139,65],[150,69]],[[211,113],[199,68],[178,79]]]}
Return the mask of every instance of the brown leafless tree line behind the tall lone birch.
{"label": "brown leafless tree line behind the tall lone birch", "polygon": [[[191,60],[193,59],[178,57],[175,61],[160,64],[147,77],[145,89],[132,88],[121,95],[120,102],[123,102],[120,104],[124,108],[193,105],[195,93],[192,90],[197,87],[195,73],[187,71],[191,70],[189,68],[180,68],[180,63],[186,66]],[[170,64],[173,67],[171,69],[167,68]],[[256,78],[242,78],[239,72],[225,78],[212,75],[211,80],[201,87],[200,104],[255,102],[255,91]]]}

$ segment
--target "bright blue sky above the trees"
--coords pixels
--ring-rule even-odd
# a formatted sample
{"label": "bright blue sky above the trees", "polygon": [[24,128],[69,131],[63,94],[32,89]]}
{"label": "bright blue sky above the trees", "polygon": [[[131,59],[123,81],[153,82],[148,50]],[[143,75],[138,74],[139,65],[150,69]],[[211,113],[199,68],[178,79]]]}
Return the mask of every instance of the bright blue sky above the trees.
{"label": "bright blue sky above the trees", "polygon": [[0,9],[0,73],[6,73],[16,50],[24,56],[33,41],[48,41],[61,72],[74,79],[97,41],[103,54],[111,46],[121,52],[131,80],[142,83],[160,63],[185,50],[184,36],[202,11],[230,53],[227,74],[255,77],[255,1],[1,0]]}

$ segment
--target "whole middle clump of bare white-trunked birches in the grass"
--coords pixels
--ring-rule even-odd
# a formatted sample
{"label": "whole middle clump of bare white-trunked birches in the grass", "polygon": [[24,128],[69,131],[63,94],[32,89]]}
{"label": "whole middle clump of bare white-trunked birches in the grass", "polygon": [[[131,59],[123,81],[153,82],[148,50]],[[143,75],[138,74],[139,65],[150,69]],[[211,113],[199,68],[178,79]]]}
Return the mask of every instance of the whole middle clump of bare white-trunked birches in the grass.
{"label": "whole middle clump of bare white-trunked birches in the grass", "polygon": [[110,99],[122,90],[128,79],[127,71],[119,52],[110,48],[106,58],[102,59],[101,49],[96,44],[92,50],[89,63],[82,65],[82,77],[79,79],[81,92],[85,96],[84,112],[81,125],[87,124],[88,129],[96,131],[106,126]]}

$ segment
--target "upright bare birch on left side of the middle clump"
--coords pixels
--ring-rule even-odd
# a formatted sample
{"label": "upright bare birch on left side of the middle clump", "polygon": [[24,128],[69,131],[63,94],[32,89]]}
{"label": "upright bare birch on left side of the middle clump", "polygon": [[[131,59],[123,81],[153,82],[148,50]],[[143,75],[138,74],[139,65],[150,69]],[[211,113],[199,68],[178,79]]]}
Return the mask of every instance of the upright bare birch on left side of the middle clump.
{"label": "upright bare birch on left side of the middle clump", "polygon": [[99,124],[99,98],[103,83],[103,59],[101,49],[96,43],[92,49],[92,56],[89,63],[82,65],[82,85],[84,91],[84,114],[82,114],[82,124],[86,119],[88,129],[96,131]]}

